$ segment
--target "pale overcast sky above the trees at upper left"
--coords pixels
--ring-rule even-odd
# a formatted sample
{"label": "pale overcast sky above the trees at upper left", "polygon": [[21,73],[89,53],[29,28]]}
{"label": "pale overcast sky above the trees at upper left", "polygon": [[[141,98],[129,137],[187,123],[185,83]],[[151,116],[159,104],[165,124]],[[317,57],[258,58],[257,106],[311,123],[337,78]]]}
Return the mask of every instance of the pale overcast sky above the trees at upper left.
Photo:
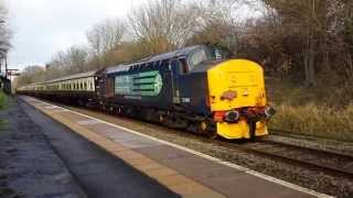
{"label": "pale overcast sky above the trees at upper left", "polygon": [[126,18],[146,0],[6,0],[13,31],[11,68],[44,65],[52,55],[86,43],[86,31],[99,21]]}

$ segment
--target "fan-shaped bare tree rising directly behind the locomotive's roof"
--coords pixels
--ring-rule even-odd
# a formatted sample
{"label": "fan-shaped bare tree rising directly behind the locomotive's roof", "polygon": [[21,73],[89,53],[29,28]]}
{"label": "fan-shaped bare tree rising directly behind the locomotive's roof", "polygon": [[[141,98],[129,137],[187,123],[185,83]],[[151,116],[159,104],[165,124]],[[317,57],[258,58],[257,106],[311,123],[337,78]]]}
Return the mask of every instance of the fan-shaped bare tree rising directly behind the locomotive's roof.
{"label": "fan-shaped bare tree rising directly behind the locomotive's roof", "polygon": [[197,25],[197,9],[180,0],[154,0],[129,15],[131,30],[150,53],[182,46]]}

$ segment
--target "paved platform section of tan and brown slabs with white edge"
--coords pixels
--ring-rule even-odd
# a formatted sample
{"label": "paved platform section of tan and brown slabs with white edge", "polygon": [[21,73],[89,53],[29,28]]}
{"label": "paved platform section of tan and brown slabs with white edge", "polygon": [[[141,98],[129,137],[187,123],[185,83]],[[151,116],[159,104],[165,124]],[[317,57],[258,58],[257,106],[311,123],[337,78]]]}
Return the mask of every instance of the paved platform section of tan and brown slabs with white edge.
{"label": "paved platform section of tan and brown slabs with white edge", "polygon": [[21,99],[182,197],[329,197],[32,97]]}

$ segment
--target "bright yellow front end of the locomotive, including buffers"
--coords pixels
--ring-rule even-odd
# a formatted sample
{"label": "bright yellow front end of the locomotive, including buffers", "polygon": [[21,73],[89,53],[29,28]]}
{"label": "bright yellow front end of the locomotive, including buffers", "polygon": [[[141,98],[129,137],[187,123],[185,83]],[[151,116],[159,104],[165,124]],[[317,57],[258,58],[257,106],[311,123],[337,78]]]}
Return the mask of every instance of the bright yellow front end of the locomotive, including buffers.
{"label": "bright yellow front end of the locomotive, including buffers", "polygon": [[208,101],[216,132],[225,139],[268,134],[275,110],[267,106],[263,68],[250,61],[231,59],[207,70]]}

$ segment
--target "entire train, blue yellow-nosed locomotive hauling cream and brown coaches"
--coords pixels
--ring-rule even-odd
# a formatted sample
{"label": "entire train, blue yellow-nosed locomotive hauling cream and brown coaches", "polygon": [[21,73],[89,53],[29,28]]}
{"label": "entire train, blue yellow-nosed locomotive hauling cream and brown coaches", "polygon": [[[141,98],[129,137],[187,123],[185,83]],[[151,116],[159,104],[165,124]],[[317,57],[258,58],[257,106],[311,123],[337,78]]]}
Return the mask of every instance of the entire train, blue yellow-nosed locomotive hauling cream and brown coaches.
{"label": "entire train, blue yellow-nosed locomotive hauling cream and brown coaches", "polygon": [[268,134],[264,69],[228,58],[218,47],[196,45],[43,82],[19,95],[95,108],[210,138]]}

